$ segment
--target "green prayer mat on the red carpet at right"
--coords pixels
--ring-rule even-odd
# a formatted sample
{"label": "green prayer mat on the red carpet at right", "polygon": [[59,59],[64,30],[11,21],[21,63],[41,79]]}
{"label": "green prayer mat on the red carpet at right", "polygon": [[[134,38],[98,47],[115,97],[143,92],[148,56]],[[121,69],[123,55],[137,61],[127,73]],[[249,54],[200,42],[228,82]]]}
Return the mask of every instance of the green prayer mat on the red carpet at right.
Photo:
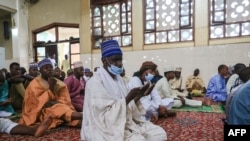
{"label": "green prayer mat on the red carpet at right", "polygon": [[210,112],[210,113],[225,113],[223,105],[211,105],[211,106],[181,106],[180,108],[172,108],[173,111],[189,111],[189,112]]}

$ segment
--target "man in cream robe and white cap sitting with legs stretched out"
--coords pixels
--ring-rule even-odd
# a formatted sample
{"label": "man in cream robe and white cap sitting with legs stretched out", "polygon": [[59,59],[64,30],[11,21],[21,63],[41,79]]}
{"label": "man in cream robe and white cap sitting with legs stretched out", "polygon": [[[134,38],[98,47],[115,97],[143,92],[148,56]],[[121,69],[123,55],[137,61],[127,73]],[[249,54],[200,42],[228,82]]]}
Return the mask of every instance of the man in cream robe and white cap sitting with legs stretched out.
{"label": "man in cream robe and white cap sitting with legs stretched out", "polygon": [[173,107],[181,107],[182,105],[188,106],[202,106],[202,101],[190,100],[186,97],[177,95],[170,87],[169,81],[174,79],[175,73],[173,67],[164,68],[164,77],[160,79],[156,85],[155,89],[159,92],[161,98],[172,98],[174,100]]}

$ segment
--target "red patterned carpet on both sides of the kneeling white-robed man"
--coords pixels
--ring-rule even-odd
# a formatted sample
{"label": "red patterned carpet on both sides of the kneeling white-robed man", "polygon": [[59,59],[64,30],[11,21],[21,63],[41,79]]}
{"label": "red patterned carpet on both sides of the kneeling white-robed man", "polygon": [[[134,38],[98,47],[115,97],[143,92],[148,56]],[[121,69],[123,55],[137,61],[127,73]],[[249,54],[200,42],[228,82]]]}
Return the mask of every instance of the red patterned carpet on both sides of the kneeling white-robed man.
{"label": "red patterned carpet on both sides of the kneeling white-robed man", "polygon": [[[223,113],[183,112],[176,117],[159,119],[168,141],[223,141]],[[80,129],[60,126],[40,138],[27,135],[0,134],[0,141],[80,141]]]}

